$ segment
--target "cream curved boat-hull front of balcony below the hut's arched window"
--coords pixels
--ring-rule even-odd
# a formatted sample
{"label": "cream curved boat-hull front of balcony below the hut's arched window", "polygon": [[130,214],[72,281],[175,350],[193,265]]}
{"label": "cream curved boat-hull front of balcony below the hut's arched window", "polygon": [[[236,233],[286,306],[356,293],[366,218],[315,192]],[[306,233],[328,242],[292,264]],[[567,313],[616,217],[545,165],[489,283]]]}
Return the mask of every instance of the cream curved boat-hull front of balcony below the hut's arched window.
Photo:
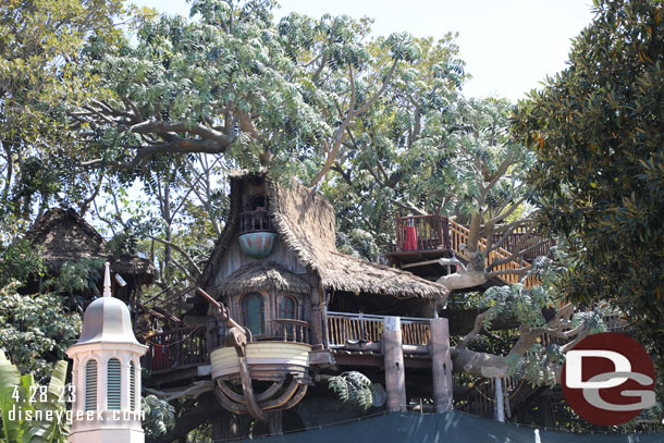
{"label": "cream curved boat-hull front of balcony below the hut's arched window", "polygon": [[[293,342],[247,343],[247,364],[254,380],[280,380],[287,373],[307,377],[311,346]],[[237,353],[232,346],[218,347],[210,353],[212,379],[239,378]]]}

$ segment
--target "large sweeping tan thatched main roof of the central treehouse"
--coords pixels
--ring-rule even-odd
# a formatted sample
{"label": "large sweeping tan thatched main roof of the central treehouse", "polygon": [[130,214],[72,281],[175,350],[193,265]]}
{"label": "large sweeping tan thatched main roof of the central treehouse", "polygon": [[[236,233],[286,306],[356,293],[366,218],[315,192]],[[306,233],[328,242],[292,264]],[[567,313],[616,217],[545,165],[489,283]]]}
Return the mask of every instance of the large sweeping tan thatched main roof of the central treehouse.
{"label": "large sweeping tan thatched main roof of the central treehouse", "polygon": [[[231,177],[231,214],[200,279],[202,286],[216,272],[223,253],[236,236],[243,182],[251,175]],[[410,272],[369,262],[336,250],[335,218],[332,206],[313,190],[296,183],[286,187],[267,182],[269,211],[282,241],[299,260],[320,278],[327,290],[438,298],[447,290]]]}

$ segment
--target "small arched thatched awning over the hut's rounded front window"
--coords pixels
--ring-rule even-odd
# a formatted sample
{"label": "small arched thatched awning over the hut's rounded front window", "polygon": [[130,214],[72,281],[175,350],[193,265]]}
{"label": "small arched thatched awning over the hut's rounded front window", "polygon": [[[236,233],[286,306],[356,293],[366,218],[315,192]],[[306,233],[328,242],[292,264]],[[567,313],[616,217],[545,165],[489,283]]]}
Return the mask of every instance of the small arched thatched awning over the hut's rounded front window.
{"label": "small arched thatched awning over the hut's rounded front window", "polygon": [[259,290],[287,291],[310,294],[311,285],[302,276],[270,261],[255,261],[235,270],[214,288],[216,296],[246,293]]}

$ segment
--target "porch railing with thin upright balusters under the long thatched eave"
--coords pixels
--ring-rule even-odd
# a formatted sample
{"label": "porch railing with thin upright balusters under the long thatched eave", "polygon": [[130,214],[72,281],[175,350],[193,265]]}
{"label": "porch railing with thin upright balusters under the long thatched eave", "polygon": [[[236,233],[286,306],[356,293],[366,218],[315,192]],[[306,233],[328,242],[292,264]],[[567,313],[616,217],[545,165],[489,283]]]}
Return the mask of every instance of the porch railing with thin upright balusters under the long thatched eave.
{"label": "porch railing with thin upright balusters under the long thatched eave", "polygon": [[[328,344],[330,347],[346,342],[380,342],[383,335],[384,316],[369,313],[328,312]],[[401,317],[404,344],[426,345],[431,339],[429,319]]]}

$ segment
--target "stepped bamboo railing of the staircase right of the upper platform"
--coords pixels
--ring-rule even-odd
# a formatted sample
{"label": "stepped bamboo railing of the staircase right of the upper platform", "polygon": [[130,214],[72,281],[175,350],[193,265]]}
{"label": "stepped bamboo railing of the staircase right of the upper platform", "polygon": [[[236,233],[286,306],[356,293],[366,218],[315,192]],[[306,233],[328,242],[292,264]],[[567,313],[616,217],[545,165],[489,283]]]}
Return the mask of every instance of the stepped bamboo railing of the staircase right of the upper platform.
{"label": "stepped bamboo railing of the staircase right of the upper platform", "polygon": [[[465,260],[468,260],[468,256],[466,256],[465,251],[462,250],[462,244],[467,245],[468,244],[468,237],[470,236],[470,230],[466,226],[463,226],[452,220],[450,220],[450,239],[451,239],[451,246],[452,246],[452,250],[454,250],[454,254],[464,258]],[[479,241],[479,248],[480,250],[485,250],[487,249],[487,238],[480,238]],[[491,253],[489,253],[489,257],[485,257],[485,264],[489,264],[495,260],[504,260],[507,259],[512,256],[512,253],[509,253],[506,249],[503,248],[497,248],[492,250]],[[494,269],[492,269],[492,272],[494,271],[508,271],[508,270],[519,270],[522,268],[526,268],[530,266],[529,262],[527,261],[507,261],[505,263],[499,264],[497,267],[495,267]],[[534,285],[538,285],[540,283],[540,279],[537,275],[528,275],[528,278],[526,278],[526,280],[524,282],[521,282],[521,275],[516,274],[516,273],[505,273],[502,275],[499,275],[497,279],[502,280],[503,282],[507,283],[507,284],[513,284],[513,283],[524,283],[524,286],[526,287],[532,287]]]}

